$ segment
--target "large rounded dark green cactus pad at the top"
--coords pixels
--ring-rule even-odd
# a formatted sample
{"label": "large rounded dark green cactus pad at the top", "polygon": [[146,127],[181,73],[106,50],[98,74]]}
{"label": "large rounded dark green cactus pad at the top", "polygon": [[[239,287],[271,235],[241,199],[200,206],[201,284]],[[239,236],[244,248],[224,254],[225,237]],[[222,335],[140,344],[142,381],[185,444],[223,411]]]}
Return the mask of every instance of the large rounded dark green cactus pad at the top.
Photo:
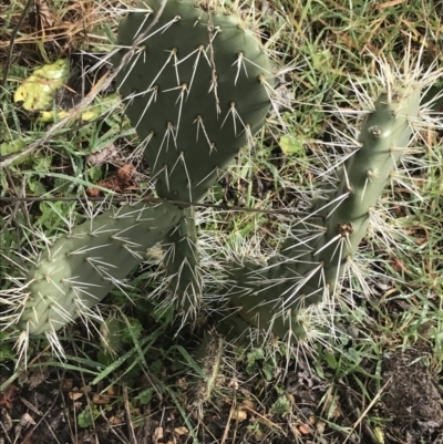
{"label": "large rounded dark green cactus pad at the top", "polygon": [[[271,64],[260,41],[236,13],[208,13],[189,0],[150,0],[119,28],[114,55],[156,190],[197,202],[264,125]],[[145,35],[147,33],[147,35]]]}

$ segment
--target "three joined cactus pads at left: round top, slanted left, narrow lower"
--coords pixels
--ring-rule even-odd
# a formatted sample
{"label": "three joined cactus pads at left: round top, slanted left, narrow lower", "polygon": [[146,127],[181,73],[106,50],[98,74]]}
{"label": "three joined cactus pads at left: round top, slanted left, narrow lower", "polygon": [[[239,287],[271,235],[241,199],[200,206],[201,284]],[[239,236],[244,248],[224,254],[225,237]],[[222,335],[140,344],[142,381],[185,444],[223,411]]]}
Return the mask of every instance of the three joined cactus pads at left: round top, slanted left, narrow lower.
{"label": "three joined cactus pads at left: round top, slanted left, narrow lower", "polygon": [[150,0],[122,21],[117,44],[113,63],[125,112],[158,196],[181,202],[181,208],[106,211],[59,239],[29,271],[18,322],[27,335],[45,333],[56,342],[55,332],[68,322],[87,321],[91,308],[159,241],[173,296],[196,312],[202,283],[188,204],[202,199],[251,143],[271,103],[270,60],[228,10]]}

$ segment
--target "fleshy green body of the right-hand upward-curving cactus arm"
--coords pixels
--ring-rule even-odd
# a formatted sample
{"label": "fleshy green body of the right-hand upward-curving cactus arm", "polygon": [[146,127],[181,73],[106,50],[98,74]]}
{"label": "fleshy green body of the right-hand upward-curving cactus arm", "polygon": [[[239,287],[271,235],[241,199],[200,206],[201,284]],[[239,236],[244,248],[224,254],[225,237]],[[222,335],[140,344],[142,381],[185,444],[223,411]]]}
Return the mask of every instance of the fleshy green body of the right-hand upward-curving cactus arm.
{"label": "fleshy green body of the right-hand upward-curving cactus arm", "polygon": [[278,337],[302,337],[302,308],[330,298],[364,237],[371,211],[409,145],[420,110],[420,87],[412,83],[382,94],[373,104],[358,144],[309,216],[293,224],[278,256],[265,268],[234,271],[230,297],[239,314]]}

